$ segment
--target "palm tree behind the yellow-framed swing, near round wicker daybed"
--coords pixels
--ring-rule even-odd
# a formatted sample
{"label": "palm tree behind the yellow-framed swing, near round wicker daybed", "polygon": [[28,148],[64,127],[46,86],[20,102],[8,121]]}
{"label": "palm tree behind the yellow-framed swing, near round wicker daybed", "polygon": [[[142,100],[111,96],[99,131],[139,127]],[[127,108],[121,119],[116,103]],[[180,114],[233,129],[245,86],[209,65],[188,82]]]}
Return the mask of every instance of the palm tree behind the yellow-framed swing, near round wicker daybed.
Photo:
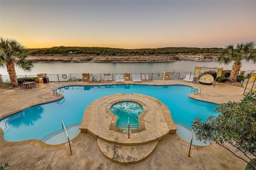
{"label": "palm tree behind the yellow-framed swing, near round wicker daybed", "polygon": [[220,64],[223,63],[227,65],[234,62],[230,74],[230,82],[236,82],[243,59],[245,59],[246,62],[252,61],[256,63],[254,46],[254,42],[238,43],[236,48],[234,48],[234,45],[228,45],[222,51],[222,54],[217,57],[217,62]]}

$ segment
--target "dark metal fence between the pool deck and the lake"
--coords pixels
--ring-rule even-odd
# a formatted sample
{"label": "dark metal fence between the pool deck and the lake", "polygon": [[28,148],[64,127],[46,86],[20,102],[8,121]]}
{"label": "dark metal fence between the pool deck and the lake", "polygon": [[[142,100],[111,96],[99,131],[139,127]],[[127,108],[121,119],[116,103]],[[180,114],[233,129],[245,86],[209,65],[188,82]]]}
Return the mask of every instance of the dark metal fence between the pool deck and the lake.
{"label": "dark metal fence between the pool deck and the lake", "polygon": [[[250,74],[251,72],[254,72],[256,70],[246,70],[244,73],[244,76],[247,76],[247,74]],[[187,74],[194,75],[194,72],[169,72],[169,80],[173,79],[180,79],[186,77]],[[124,74],[124,73],[119,73]],[[164,73],[130,73],[130,80],[132,80],[132,74],[144,74],[148,75],[149,78],[152,78],[152,80],[163,80]],[[104,76],[106,75],[112,75],[113,80],[116,80],[116,73],[104,73],[104,74],[89,74],[89,76],[93,76],[96,78],[97,76],[100,76],[101,79],[104,79]],[[83,81],[83,76],[81,74],[47,74],[50,82],[78,82]],[[26,78],[26,77],[37,77],[37,75],[17,75],[17,78]],[[9,75],[2,75],[1,83],[3,82],[10,82]]]}

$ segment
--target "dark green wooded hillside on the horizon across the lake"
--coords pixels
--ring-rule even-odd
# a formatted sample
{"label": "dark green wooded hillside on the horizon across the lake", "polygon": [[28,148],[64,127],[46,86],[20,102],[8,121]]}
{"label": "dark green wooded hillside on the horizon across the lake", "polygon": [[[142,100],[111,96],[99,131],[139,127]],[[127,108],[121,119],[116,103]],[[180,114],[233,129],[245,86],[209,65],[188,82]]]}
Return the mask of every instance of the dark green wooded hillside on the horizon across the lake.
{"label": "dark green wooded hillside on the horizon across the lake", "polygon": [[118,49],[107,47],[51,47],[29,49],[30,56],[158,56],[176,54],[220,54],[222,48],[165,47],[156,49]]}

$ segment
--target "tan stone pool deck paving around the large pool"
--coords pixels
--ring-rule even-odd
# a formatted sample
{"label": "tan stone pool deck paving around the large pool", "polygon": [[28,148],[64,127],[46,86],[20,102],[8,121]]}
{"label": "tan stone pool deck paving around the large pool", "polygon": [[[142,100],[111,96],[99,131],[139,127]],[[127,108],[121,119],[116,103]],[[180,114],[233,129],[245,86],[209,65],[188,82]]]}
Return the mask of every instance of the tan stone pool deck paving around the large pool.
{"label": "tan stone pool deck paving around the large pool", "polygon": [[[88,82],[54,82],[40,84],[33,89],[20,90],[0,89],[0,118],[6,117],[17,111],[36,104],[42,104],[58,100],[63,96],[53,95],[53,88],[70,85],[100,85],[116,84],[111,83],[88,83]],[[118,83],[120,84],[120,83]],[[183,82],[181,80],[153,80],[152,82],[125,84],[152,84],[152,85],[187,85],[202,88],[201,94],[189,94],[189,97],[197,100],[220,104],[228,101],[240,101],[244,96],[244,88],[230,86],[227,84],[216,84],[207,86]],[[246,90],[249,91],[249,90]],[[243,170],[246,162],[237,158],[229,152],[213,143],[206,147],[194,146],[188,157],[189,148],[186,142],[180,139],[177,134],[169,134],[165,139],[156,144],[152,153],[136,164],[122,165],[107,159],[98,149],[97,139],[88,133],[80,133],[72,140],[73,154],[70,155],[68,146],[46,145],[39,140],[28,140],[22,142],[8,142],[2,138],[0,131],[0,165],[8,162],[8,169],[98,169],[98,170]],[[144,152],[144,150],[136,152]],[[236,154],[242,153],[236,152]],[[245,158],[246,159],[246,158]]]}

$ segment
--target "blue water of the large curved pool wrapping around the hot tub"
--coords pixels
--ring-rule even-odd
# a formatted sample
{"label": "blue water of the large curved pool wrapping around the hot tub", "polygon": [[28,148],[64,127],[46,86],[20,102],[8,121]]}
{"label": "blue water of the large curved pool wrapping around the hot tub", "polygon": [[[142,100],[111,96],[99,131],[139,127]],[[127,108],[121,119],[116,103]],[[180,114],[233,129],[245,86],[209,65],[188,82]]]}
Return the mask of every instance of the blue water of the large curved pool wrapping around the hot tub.
{"label": "blue water of the large curved pool wrapping around the hot tub", "polygon": [[[188,97],[189,86],[109,85],[63,87],[64,98],[60,101],[30,107],[0,121],[7,141],[39,139],[56,145],[67,142],[63,131],[64,122],[70,139],[78,135],[84,109],[94,100],[116,93],[138,93],[157,98],[170,109],[172,119],[178,127],[177,134],[190,142],[191,122],[201,117],[204,122],[210,115],[218,115],[218,106]],[[194,145],[203,145],[193,139]]]}

